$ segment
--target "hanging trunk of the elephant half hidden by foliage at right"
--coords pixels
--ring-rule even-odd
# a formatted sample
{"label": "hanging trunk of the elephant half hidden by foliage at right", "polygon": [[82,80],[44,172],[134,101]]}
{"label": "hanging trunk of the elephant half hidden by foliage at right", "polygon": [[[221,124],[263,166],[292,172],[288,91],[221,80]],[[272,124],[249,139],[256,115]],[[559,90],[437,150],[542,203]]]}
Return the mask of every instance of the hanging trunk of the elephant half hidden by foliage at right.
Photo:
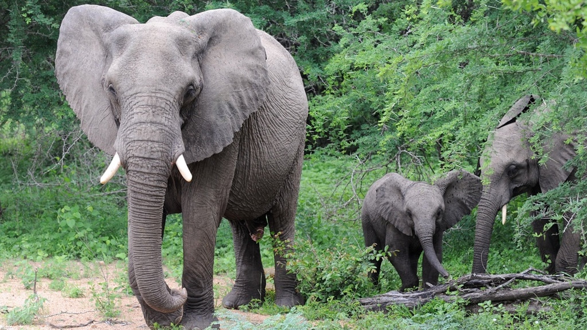
{"label": "hanging trunk of the elephant half hidden by foliage at right", "polygon": [[499,202],[496,202],[496,200],[497,198],[492,193],[484,191],[477,206],[473,268],[471,270],[473,273],[483,274],[487,272],[487,258],[495,216],[497,216],[498,211],[502,207],[501,199]]}

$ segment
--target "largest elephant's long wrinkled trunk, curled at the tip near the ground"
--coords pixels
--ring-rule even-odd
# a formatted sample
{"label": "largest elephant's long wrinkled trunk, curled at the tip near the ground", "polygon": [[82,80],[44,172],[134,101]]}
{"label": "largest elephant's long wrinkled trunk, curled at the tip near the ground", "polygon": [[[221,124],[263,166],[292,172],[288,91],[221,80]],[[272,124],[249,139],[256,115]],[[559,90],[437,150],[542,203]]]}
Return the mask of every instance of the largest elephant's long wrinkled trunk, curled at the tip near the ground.
{"label": "largest elephant's long wrinkled trunk, curled at the tip near the ground", "polygon": [[185,149],[180,121],[169,115],[173,106],[158,106],[156,97],[133,101],[115,143],[127,177],[130,281],[147,305],[169,313],[183,306],[187,292],[170,290],[164,280],[161,221],[171,168]]}

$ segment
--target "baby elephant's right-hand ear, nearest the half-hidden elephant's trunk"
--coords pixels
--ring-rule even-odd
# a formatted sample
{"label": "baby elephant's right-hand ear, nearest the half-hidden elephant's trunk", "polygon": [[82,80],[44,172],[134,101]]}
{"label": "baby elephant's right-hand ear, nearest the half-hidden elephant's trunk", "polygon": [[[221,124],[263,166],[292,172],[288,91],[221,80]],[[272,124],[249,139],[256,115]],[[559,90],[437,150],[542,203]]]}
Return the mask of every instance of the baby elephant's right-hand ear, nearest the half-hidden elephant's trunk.
{"label": "baby elephant's right-hand ear, nearest the half-hidden elephant's trunk", "polygon": [[479,203],[483,191],[481,179],[465,170],[450,171],[434,185],[444,197],[444,216],[440,224],[442,231],[453,227],[465,214],[469,214]]}

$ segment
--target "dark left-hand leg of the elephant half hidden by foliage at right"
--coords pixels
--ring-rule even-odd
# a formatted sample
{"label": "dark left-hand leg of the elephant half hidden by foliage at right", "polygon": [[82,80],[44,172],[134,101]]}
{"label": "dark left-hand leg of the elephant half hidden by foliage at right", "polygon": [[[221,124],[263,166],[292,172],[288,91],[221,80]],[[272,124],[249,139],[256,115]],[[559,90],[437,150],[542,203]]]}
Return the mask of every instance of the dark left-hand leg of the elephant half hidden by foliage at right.
{"label": "dark left-hand leg of the elephant half hidden by foliage at right", "polygon": [[[531,212],[530,215],[534,216],[535,213]],[[558,236],[558,224],[554,223],[548,228],[548,230],[544,230],[544,226],[550,222],[550,218],[534,220],[534,222],[532,222],[532,228],[534,229],[534,234],[536,234],[536,244],[538,246],[538,251],[540,251],[542,262],[548,264],[546,271],[550,274],[554,274],[555,261],[561,243],[559,242]]]}

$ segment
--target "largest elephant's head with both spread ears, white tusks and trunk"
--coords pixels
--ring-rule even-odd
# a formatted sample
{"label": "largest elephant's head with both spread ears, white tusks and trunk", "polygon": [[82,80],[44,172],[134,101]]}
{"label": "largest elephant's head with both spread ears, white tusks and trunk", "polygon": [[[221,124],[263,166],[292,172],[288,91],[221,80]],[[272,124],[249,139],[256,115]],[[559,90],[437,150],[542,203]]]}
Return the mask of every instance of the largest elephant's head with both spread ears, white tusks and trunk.
{"label": "largest elephant's head with both spread ears, white tusks and trunk", "polygon": [[146,303],[172,312],[185,291],[161,269],[161,218],[176,163],[218,153],[265,99],[265,49],[231,9],[174,12],[141,24],[97,5],[71,8],[59,31],[55,72],[91,142],[114,154],[107,181],[126,171],[129,260]]}

